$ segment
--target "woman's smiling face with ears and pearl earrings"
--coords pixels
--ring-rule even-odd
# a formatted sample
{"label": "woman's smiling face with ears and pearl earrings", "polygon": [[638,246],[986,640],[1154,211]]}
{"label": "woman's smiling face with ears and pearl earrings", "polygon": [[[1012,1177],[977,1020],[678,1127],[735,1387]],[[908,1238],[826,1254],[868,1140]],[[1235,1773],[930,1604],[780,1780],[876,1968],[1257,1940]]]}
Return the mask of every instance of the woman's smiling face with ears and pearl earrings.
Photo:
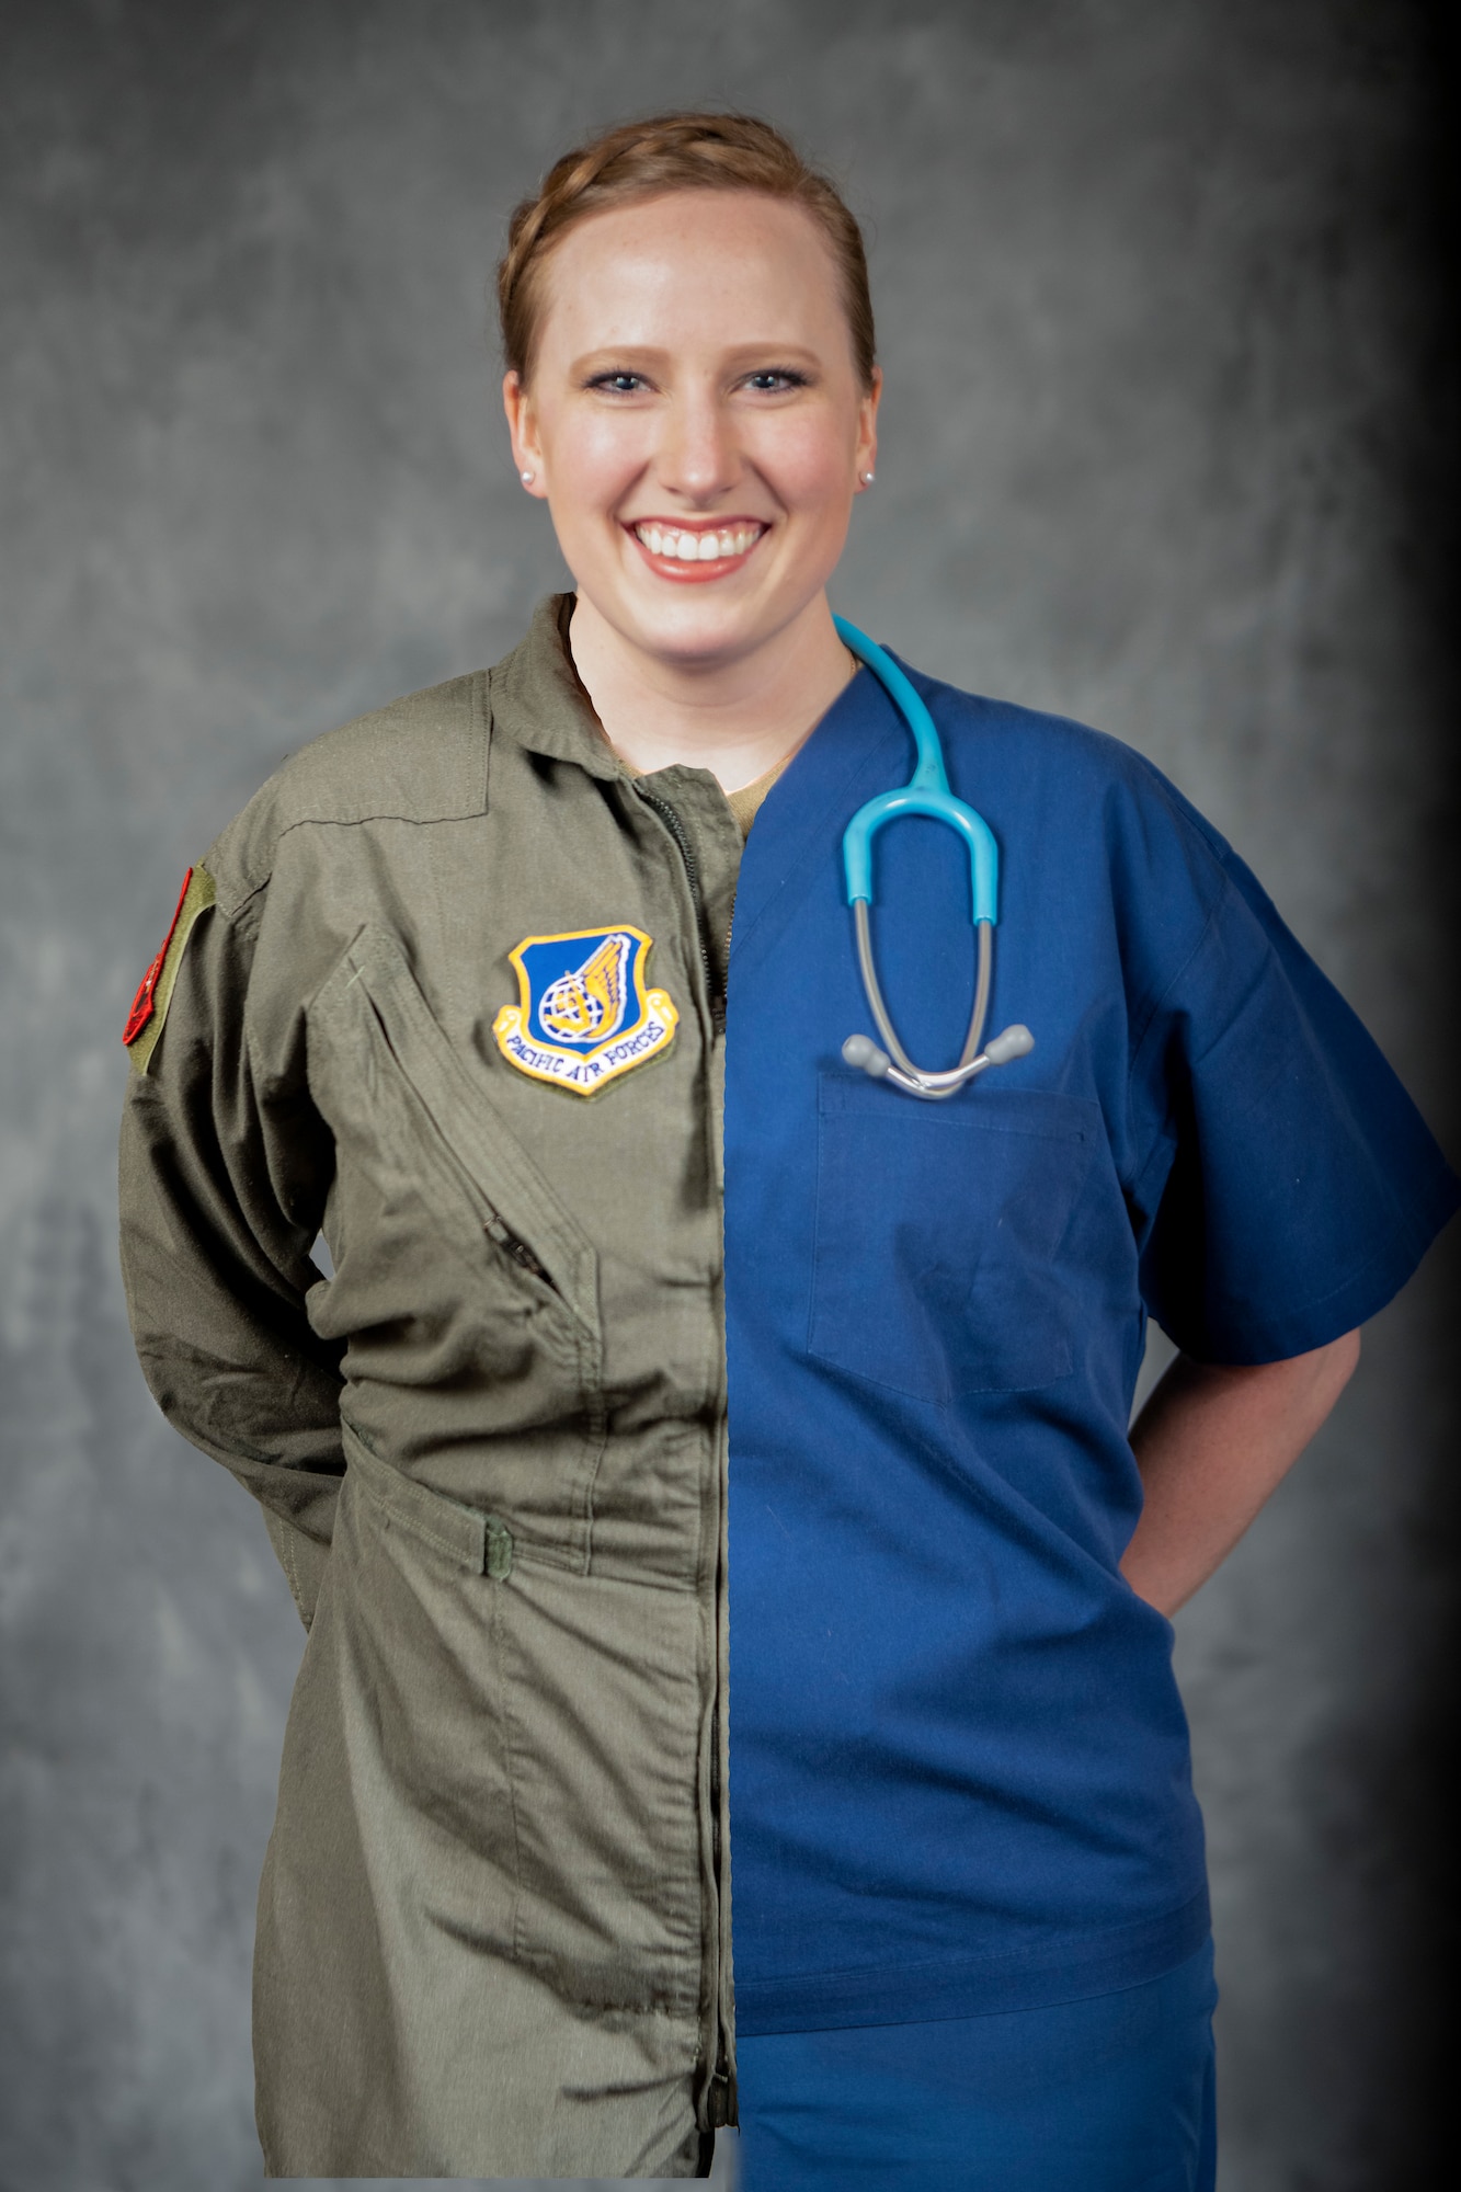
{"label": "woman's smiling face with ears and pearl earrings", "polygon": [[581,221],[544,274],[531,384],[502,395],[579,592],[667,664],[755,653],[823,594],[875,460],[820,228],[676,191]]}

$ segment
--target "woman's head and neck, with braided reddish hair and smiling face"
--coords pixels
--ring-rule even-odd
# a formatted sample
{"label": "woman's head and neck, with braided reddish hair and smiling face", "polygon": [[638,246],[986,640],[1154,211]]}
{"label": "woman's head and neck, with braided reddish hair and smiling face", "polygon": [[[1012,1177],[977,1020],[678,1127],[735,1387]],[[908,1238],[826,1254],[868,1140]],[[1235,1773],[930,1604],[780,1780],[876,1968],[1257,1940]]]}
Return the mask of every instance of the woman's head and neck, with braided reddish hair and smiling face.
{"label": "woman's head and neck, with braided reddish hair and smiling face", "polygon": [[581,171],[548,178],[553,219],[518,210],[502,263],[513,454],[610,741],[735,791],[856,669],[825,587],[877,456],[862,241],[757,123],[616,132]]}

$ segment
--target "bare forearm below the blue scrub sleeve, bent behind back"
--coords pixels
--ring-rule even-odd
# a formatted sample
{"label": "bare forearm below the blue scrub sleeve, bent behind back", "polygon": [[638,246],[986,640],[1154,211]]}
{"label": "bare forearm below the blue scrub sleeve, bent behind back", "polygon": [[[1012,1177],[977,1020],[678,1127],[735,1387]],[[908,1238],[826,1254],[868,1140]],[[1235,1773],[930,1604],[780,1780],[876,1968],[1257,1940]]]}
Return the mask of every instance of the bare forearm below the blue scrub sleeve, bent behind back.
{"label": "bare forearm below the blue scrub sleeve, bent behind back", "polygon": [[1228,1556],[1349,1383],[1360,1335],[1253,1368],[1178,1355],[1132,1427],[1145,1506],[1121,1574],[1176,1613]]}

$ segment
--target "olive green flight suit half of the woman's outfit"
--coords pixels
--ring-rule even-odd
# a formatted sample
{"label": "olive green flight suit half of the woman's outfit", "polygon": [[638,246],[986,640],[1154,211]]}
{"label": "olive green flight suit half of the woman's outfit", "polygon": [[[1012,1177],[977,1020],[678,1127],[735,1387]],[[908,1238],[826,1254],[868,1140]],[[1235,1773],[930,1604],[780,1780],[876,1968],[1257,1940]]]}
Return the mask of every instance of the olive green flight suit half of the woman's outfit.
{"label": "olive green flight suit half of the woman's outfit", "polygon": [[[309,1626],[259,1894],[272,2177],[693,2177],[733,2113],[741,835],[706,772],[619,767],[570,605],[263,787],[132,1052],[138,1355]],[[509,951],[616,925],[673,1041],[592,1098],[529,1078]]]}

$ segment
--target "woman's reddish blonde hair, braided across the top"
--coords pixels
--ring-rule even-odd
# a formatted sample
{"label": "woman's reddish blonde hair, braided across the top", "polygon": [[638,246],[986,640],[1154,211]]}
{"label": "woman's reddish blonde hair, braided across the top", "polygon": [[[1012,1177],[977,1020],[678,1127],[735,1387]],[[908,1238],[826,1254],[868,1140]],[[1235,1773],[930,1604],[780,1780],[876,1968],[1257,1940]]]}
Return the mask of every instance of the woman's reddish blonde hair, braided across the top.
{"label": "woman's reddish blonde hair, braided across the top", "polygon": [[759,191],[803,206],[831,248],[858,377],[871,388],[877,344],[862,230],[836,184],[755,114],[654,114],[605,129],[592,145],[555,160],[537,197],[524,197],[513,213],[498,265],[509,370],[526,381],[533,368],[542,274],[553,246],[594,213],[667,191]]}

